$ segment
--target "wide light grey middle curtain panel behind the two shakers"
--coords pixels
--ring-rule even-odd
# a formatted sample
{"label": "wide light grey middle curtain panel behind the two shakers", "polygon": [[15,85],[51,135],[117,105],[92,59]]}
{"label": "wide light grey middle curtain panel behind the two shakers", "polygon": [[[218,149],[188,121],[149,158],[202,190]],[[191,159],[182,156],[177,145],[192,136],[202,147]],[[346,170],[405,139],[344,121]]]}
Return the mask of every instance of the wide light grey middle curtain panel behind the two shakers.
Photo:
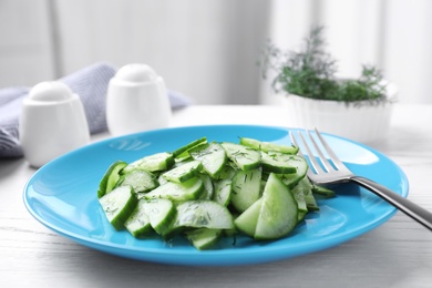
{"label": "wide light grey middle curtain panel behind the two shakers", "polygon": [[257,103],[267,0],[52,0],[60,74],[141,62],[196,104]]}

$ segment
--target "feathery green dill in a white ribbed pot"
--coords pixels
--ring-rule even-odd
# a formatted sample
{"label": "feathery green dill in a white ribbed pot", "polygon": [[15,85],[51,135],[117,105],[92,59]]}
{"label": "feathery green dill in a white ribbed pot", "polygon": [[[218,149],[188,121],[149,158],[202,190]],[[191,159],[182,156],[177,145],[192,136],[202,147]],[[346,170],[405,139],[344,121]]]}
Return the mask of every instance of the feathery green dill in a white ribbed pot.
{"label": "feathery green dill in a white ribbed pot", "polygon": [[322,27],[313,28],[301,51],[281,51],[270,42],[264,51],[263,76],[275,73],[271,86],[285,94],[289,125],[366,143],[382,140],[390,127],[394,84],[372,65],[363,65],[358,79],[337,76],[322,32]]}

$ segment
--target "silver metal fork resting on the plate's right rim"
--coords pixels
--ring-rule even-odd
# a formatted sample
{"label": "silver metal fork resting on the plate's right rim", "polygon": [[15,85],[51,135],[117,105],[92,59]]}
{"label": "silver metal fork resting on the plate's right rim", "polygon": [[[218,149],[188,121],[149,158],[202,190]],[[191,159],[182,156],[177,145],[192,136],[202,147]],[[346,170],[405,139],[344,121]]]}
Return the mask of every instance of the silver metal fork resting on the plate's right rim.
{"label": "silver metal fork resting on the plate's right rim", "polygon": [[[306,141],[304,134],[308,135],[309,142],[312,143],[312,146],[316,153],[318,154],[317,157],[313,156],[313,153],[309,147],[308,142]],[[315,137],[311,135],[310,131],[307,131],[305,133],[298,132],[297,136],[295,136],[295,133],[292,131],[290,132],[292,144],[295,144],[297,147],[300,147],[297,142],[297,138],[300,138],[305,150],[304,152],[306,152],[307,155],[309,155],[310,166],[308,169],[308,177],[312,183],[317,185],[348,183],[348,182],[356,183],[373,192],[374,194],[377,194],[384,200],[389,202],[394,207],[405,213],[408,216],[410,216],[418,223],[422,224],[424,227],[432,230],[432,213],[430,213],[429,210],[420,207],[419,205],[410,202],[409,199],[400,196],[399,194],[390,191],[389,188],[371,179],[354,175],[338,158],[338,156],[330,148],[330,146],[327,144],[326,140],[321,136],[321,134],[318,132],[317,128],[315,130],[315,134],[321,142],[321,146],[325,148],[331,162],[327,160],[327,157],[323,155],[320,146],[318,145]],[[319,164],[317,158],[319,158],[319,162],[321,163],[322,166]]]}

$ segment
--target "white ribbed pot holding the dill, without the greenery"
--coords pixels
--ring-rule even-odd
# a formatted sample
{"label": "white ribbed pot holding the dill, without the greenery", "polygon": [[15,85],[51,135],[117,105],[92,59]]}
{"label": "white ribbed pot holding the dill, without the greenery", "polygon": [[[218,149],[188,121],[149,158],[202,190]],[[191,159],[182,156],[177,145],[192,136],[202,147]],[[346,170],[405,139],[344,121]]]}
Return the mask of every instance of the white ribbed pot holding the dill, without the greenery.
{"label": "white ribbed pot holding the dill, without the greenery", "polygon": [[[388,84],[387,93],[395,99],[398,89]],[[347,105],[343,102],[313,100],[289,94],[284,97],[289,125],[318,128],[357,142],[370,144],[385,138],[390,130],[393,103]]]}

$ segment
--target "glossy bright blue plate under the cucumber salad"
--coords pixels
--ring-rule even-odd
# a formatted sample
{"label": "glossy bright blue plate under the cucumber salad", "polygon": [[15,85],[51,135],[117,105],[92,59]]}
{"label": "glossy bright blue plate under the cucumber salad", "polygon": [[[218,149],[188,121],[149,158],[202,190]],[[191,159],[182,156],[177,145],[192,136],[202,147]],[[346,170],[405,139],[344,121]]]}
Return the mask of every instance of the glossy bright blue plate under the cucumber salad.
{"label": "glossy bright blue plate under the cucumber salad", "polygon": [[[337,246],[388,220],[395,208],[357,186],[337,187],[338,196],[318,202],[287,237],[255,241],[226,237],[213,250],[198,251],[183,237],[135,239],[107,223],[96,191],[107,167],[156,152],[174,151],[202,136],[238,142],[239,136],[290,144],[289,128],[213,125],[157,130],[110,138],[73,151],[41,167],[28,182],[23,199],[40,223],[72,240],[121,257],[173,265],[246,265],[285,259]],[[356,174],[369,177],[407,197],[408,179],[388,157],[362,144],[325,134],[339,157]]]}

